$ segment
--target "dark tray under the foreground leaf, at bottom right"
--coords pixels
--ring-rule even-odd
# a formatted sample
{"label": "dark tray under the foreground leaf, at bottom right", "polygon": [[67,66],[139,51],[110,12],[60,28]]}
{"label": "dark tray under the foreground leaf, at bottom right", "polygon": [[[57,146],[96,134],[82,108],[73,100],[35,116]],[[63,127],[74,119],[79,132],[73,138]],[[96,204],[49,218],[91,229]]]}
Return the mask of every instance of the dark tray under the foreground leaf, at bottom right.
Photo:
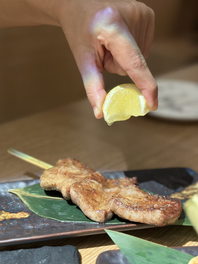
{"label": "dark tray under the foreground leaf, at bottom right", "polygon": [[[188,253],[193,256],[198,255],[198,247],[171,247],[171,249],[179,250],[183,253]],[[130,264],[124,254],[119,250],[107,250],[98,255],[96,264]]]}

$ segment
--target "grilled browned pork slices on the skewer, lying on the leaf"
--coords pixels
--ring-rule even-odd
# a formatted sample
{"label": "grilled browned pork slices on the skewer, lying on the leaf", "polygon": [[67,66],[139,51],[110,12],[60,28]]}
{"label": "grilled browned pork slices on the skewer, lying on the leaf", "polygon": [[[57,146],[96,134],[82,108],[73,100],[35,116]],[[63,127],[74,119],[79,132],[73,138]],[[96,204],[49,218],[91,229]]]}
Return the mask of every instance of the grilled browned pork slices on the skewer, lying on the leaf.
{"label": "grilled browned pork slices on the skewer, lying on the leaf", "polygon": [[141,190],[136,177],[106,179],[70,158],[59,160],[55,167],[44,171],[40,184],[45,190],[61,192],[98,223],[105,223],[115,213],[130,221],[164,226],[174,223],[182,211],[179,199]]}

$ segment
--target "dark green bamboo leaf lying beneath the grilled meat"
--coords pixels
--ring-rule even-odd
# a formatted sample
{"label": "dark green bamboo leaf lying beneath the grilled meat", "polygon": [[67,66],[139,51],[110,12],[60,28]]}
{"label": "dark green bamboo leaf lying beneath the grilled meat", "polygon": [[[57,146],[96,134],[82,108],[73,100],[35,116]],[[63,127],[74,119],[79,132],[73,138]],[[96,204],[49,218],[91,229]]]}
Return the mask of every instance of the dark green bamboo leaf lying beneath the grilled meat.
{"label": "dark green bamboo leaf lying beneath the grilled meat", "polygon": [[[41,217],[61,222],[96,223],[88,219],[71,200],[66,201],[61,193],[45,191],[40,187],[40,184],[9,189],[8,192],[16,194],[33,213]],[[126,223],[121,220],[115,216],[108,224]]]}

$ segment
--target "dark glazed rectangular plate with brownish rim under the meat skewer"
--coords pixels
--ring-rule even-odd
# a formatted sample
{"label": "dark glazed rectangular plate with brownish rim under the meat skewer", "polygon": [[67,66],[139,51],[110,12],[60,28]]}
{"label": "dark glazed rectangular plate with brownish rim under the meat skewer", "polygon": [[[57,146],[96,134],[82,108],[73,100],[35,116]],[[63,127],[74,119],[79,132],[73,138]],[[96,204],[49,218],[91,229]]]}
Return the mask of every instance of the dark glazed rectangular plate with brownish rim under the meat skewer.
{"label": "dark glazed rectangular plate with brownish rim under the meat skewer", "polygon": [[[103,173],[107,178],[123,176],[138,179],[140,188],[159,195],[169,196],[171,193],[180,192],[185,187],[198,181],[198,174],[188,168],[167,168],[140,171],[121,171]],[[10,213],[26,212],[28,218],[4,219],[0,218],[0,245],[35,242],[38,240],[62,239],[65,237],[93,235],[105,233],[104,229],[126,231],[156,227],[143,223],[125,221],[124,224],[100,223],[61,223],[52,219],[42,218],[32,213],[27,206],[13,193],[8,193],[11,188],[23,188],[39,183],[39,180],[25,180],[0,184],[0,211]],[[185,200],[182,200],[184,202]]]}

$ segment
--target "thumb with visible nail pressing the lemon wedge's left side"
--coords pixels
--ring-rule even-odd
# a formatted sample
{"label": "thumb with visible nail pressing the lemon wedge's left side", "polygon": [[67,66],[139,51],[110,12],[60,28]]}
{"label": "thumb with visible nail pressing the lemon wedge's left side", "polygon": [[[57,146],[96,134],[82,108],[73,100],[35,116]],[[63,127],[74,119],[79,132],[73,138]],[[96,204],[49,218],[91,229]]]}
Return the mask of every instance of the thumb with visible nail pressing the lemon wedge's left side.
{"label": "thumb with visible nail pressing the lemon wedge's left side", "polygon": [[103,117],[102,104],[105,100],[106,92],[103,80],[102,67],[97,67],[96,60],[89,60],[79,67],[88,100],[93,108],[97,119]]}

